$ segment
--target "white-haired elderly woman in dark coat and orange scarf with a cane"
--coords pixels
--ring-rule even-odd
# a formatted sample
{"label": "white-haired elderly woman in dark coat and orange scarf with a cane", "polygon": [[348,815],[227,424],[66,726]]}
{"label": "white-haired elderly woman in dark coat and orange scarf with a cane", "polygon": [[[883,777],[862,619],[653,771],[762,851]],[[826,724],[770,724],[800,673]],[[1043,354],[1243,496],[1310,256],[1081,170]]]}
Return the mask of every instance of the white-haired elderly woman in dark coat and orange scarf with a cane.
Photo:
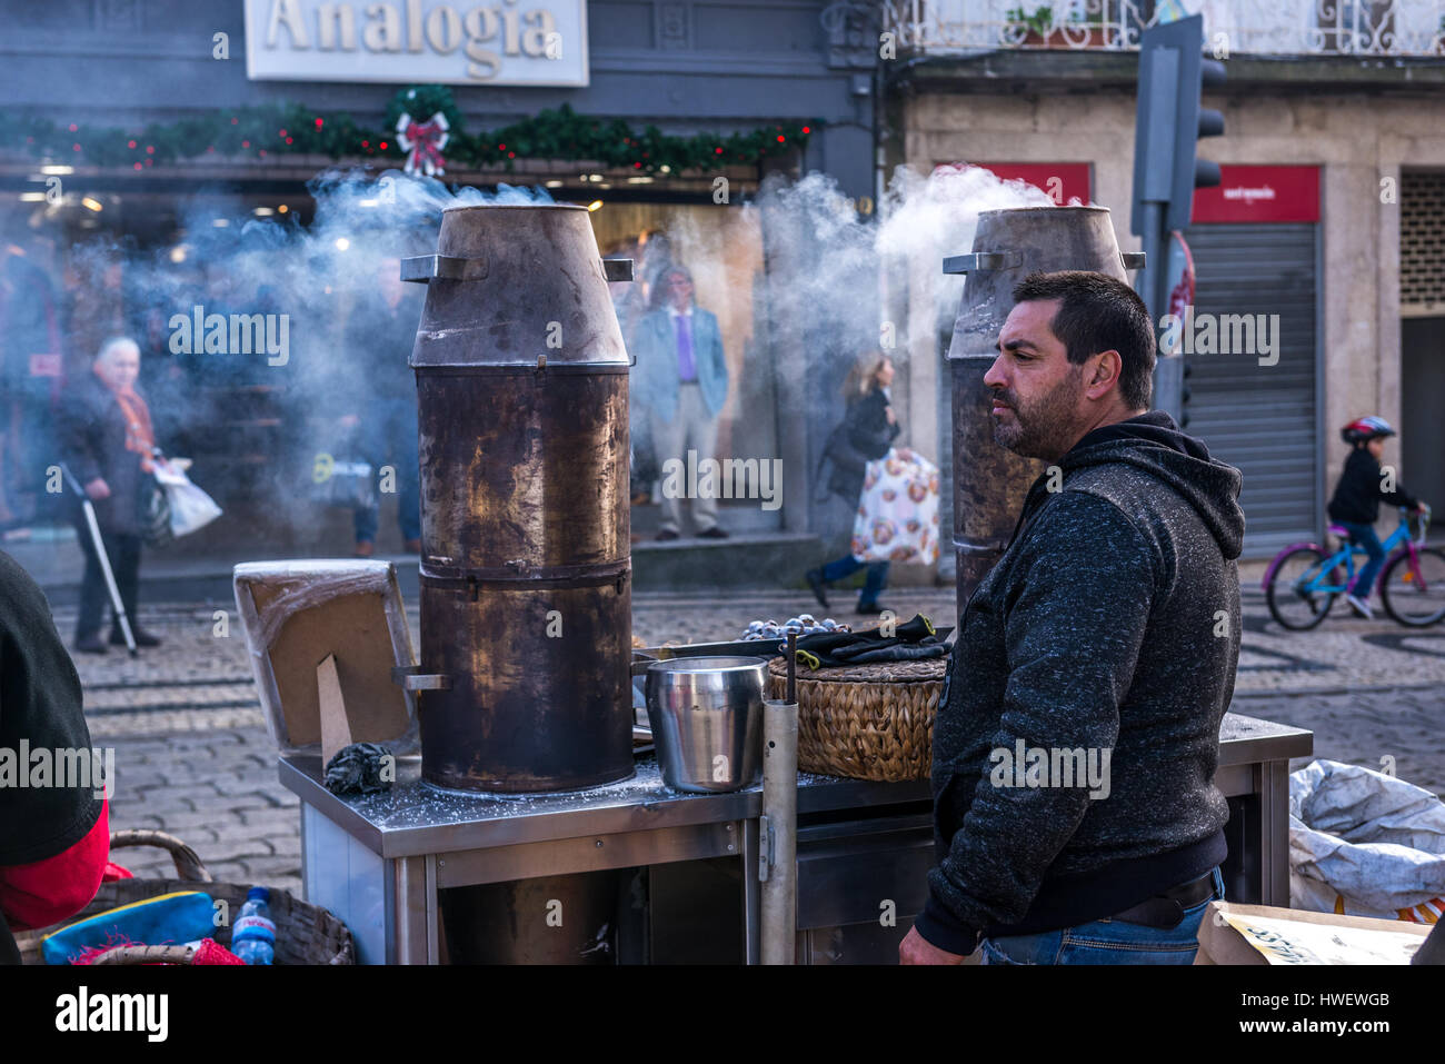
{"label": "white-haired elderly woman in dark coat and orange scarf with a cane", "polygon": [[[92,373],[72,385],[61,406],[65,463],[95,507],[95,522],[136,645],[158,646],[160,640],[140,630],[136,614],[142,474],[150,471],[156,447],[150,411],[134,389],[140,376],[140,348],[126,337],[107,340],[91,369]],[[110,591],[78,503],[74,519],[81,549],[85,551],[75,649],[105,653],[100,629]],[[110,642],[113,646],[126,642],[114,616]]]}

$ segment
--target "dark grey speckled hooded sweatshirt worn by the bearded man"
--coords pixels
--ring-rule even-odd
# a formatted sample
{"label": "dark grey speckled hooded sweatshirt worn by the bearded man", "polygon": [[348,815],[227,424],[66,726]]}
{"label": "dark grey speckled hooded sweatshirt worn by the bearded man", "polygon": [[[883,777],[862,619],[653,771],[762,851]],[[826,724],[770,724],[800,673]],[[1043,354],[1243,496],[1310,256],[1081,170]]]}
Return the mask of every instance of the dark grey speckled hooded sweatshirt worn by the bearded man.
{"label": "dark grey speckled hooded sweatshirt worn by the bearded man", "polygon": [[933,726],[916,928],[951,953],[1110,917],[1225,856],[1240,471],[1162,412],[1059,467],[964,607]]}

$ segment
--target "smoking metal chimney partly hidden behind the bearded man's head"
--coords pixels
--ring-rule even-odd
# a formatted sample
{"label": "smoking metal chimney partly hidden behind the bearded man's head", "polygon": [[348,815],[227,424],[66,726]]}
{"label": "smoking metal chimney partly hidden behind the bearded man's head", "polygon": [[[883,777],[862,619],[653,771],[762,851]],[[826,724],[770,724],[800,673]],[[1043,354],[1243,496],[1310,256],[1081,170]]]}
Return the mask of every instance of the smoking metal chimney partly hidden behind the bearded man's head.
{"label": "smoking metal chimney partly hidden behind the bearded man's head", "polygon": [[1035,270],[1095,270],[1127,280],[1143,254],[1121,256],[1107,207],[1023,207],[984,211],[972,254],[944,259],[967,273],[948,348],[954,389],[954,551],[958,610],[1003,554],[1043,463],[993,439],[991,389],[984,374],[998,357],[998,332],[1013,309],[1013,286]]}

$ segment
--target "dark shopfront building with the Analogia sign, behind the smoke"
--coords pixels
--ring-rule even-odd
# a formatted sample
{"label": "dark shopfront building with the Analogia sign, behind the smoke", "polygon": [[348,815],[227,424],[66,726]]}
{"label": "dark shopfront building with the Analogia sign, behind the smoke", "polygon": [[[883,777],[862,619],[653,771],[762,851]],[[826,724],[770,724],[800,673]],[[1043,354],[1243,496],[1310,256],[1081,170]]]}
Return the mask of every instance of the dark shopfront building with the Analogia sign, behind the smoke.
{"label": "dark shopfront building with the Analogia sign, behind the smoke", "polygon": [[[58,123],[79,145],[74,153],[64,150],[68,145],[38,152],[0,137],[6,234],[0,244],[16,272],[26,267],[30,285],[14,289],[9,315],[17,318],[32,296],[49,306],[32,322],[39,338],[12,344],[12,393],[48,395],[84,372],[98,343],[116,331],[147,332],[142,337],[150,363],[146,380],[163,390],[166,382],[155,374],[168,354],[165,322],[173,311],[188,309],[192,295],[211,292],[217,305],[230,299],[231,309],[247,311],[280,306],[289,298],[276,291],[279,285],[240,291],[228,276],[250,220],[312,224],[318,200],[308,182],[319,172],[366,166],[380,173],[402,163],[394,149],[379,153],[377,145],[341,156],[267,153],[250,142],[246,150],[217,152],[204,143],[217,116],[292,103],[314,113],[318,129],[324,116],[328,121],[348,116],[386,136],[387,108],[399,90],[442,82],[464,123],[454,132],[471,136],[525,129],[539,113],[562,107],[604,127],[621,123],[634,136],[656,127],[659,134],[717,137],[720,145],[731,145],[734,134],[772,136],[775,127],[777,140],[783,130],[806,130],[796,146],[762,160],[738,162],[720,146],[717,163],[685,172],[574,159],[562,150],[548,158],[533,149],[507,165],[454,162],[445,181],[484,191],[499,182],[538,186],[556,201],[595,204],[603,253],[637,259],[637,282],[616,286],[624,327],[655,308],[666,265],[692,270],[698,305],[718,318],[731,382],[718,457],[782,457],[789,471],[808,466],[802,454],[808,428],[799,431],[789,412],[792,382],[806,374],[777,379],[766,330],[757,324],[767,296],[769,236],[741,208],[775,172],[821,171],[848,197],[871,194],[874,53],[870,40],[860,48],[858,14],[845,6],[58,0],[7,7],[0,113],[12,121],[23,116]],[[553,46],[558,55],[549,65]],[[191,150],[163,162],[146,158],[155,130],[173,136],[185,121],[199,123]],[[97,159],[90,145],[105,129],[129,132],[134,156]],[[416,244],[399,241],[399,253],[415,253]],[[353,239],[353,252],[360,246]],[[335,308],[312,332],[338,344],[353,304],[366,298],[364,285],[341,278],[335,257],[327,263],[306,283],[335,296]],[[158,283],[169,292],[163,301],[155,298]],[[266,299],[272,302],[260,306]],[[46,357],[36,361],[19,347],[43,348]],[[182,445],[201,463],[198,470],[210,467],[218,494],[244,497],[272,476],[267,470],[276,466],[283,439],[296,435],[295,419],[314,411],[282,402],[277,392],[285,387],[276,373],[221,372],[215,364],[186,367],[188,374],[192,370],[198,376],[186,376],[185,387],[172,387],[171,398],[184,399],[194,416],[182,425],[169,409],[158,413],[175,422]],[[33,405],[43,408],[43,399]],[[10,422],[19,425],[22,415]],[[43,457],[26,458],[23,451],[16,442],[6,457],[17,494],[33,493]],[[802,533],[809,526],[801,481],[788,484],[779,509],[750,502],[724,512],[744,532]],[[634,518],[639,528],[650,528],[647,505]]]}

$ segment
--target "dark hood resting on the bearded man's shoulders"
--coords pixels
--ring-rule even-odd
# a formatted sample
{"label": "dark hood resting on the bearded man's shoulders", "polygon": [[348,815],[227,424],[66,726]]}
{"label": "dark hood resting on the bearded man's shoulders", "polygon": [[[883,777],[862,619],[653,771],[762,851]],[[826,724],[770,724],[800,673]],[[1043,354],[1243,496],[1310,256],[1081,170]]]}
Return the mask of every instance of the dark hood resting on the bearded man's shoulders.
{"label": "dark hood resting on the bearded man's shoulders", "polygon": [[1204,441],[1185,435],[1168,413],[1149,411],[1097,428],[1079,439],[1059,466],[1068,476],[1072,470],[1108,463],[1134,466],[1162,480],[1198,512],[1227,559],[1240,557],[1244,545],[1240,471],[1211,458]]}

